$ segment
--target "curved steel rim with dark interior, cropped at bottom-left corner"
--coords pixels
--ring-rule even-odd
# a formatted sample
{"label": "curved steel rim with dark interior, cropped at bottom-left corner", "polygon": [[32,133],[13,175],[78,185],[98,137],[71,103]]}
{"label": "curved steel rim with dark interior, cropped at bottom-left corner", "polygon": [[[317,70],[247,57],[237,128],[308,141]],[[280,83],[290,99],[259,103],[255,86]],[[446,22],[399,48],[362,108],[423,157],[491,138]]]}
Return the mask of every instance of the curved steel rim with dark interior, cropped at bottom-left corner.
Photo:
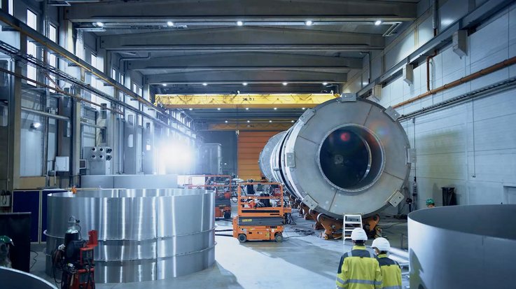
{"label": "curved steel rim with dark interior, cropped at bottom-left corner", "polygon": [[6,267],[0,267],[0,288],[8,289],[57,289],[50,282],[38,276]]}

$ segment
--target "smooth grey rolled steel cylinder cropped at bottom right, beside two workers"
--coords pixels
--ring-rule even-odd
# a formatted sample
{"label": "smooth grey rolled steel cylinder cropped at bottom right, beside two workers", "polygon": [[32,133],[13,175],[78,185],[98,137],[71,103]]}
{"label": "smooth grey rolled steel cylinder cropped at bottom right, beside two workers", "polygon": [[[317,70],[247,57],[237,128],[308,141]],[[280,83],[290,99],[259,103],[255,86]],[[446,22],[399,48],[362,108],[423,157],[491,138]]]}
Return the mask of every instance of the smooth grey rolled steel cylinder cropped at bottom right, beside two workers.
{"label": "smooth grey rolled steel cylinder cropped at bottom right, beside two workers", "polygon": [[515,288],[516,205],[414,211],[408,239],[410,288]]}

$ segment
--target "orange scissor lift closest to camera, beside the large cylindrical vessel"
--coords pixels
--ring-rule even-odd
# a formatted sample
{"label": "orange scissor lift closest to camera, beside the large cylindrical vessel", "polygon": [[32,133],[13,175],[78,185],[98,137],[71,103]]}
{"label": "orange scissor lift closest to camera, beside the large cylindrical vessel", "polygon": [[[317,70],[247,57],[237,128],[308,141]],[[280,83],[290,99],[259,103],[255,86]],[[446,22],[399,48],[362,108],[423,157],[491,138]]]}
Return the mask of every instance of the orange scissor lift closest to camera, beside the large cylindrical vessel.
{"label": "orange scissor lift closest to camera, beside the large cylindrical vessel", "polygon": [[[274,185],[278,189],[272,195],[243,196],[242,188],[247,185]],[[237,197],[238,215],[233,218],[233,237],[241,243],[247,240],[283,241],[286,213],[291,213],[291,208],[285,206],[280,183],[239,183]],[[259,206],[264,203],[268,205]]]}

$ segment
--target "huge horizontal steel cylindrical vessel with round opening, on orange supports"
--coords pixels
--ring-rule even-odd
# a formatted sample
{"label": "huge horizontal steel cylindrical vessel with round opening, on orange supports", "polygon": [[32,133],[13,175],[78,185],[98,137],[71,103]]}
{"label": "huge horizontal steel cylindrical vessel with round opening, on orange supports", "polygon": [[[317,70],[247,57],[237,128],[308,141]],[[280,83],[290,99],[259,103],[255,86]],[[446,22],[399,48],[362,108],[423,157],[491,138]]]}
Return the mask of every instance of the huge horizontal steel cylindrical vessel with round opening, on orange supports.
{"label": "huge horizontal steel cylindrical vessel with round opening, on orange supports", "polygon": [[[262,172],[310,209],[333,218],[368,216],[389,204],[410,173],[410,143],[398,113],[375,102],[340,97],[308,109],[273,136],[260,155]],[[272,171],[272,173],[270,173]]]}

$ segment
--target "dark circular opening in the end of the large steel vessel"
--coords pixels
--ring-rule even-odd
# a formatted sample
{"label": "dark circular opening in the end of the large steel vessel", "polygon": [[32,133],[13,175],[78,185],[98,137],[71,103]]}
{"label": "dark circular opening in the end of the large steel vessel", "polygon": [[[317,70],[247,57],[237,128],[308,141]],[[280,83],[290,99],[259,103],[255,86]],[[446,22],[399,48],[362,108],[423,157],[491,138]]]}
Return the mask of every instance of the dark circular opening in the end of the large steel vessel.
{"label": "dark circular opening in the end of the large steel vessel", "polygon": [[384,163],[382,146],[368,129],[347,125],[330,132],[319,149],[319,168],[334,187],[358,191],[377,181]]}

